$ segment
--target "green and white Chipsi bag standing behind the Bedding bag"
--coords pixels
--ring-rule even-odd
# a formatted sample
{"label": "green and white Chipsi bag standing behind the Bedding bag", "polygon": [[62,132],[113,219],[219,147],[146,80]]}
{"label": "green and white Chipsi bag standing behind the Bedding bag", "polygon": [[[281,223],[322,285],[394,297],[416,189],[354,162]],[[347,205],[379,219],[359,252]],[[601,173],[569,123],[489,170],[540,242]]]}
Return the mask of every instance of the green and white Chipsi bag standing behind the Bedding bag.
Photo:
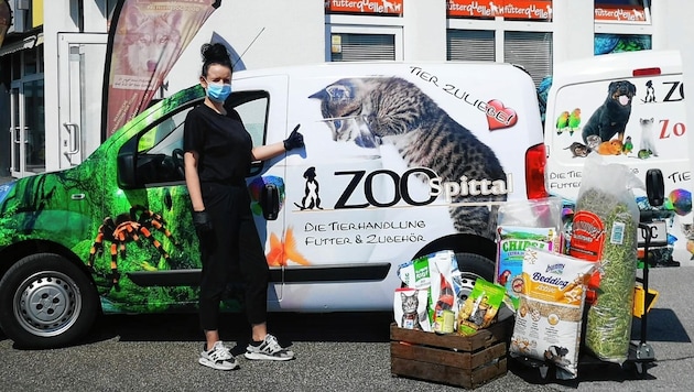
{"label": "green and white Chipsi bag standing behind the Bedding bag", "polygon": [[508,203],[499,207],[495,283],[506,287],[507,305],[518,308],[523,254],[529,247],[561,250],[561,199]]}

